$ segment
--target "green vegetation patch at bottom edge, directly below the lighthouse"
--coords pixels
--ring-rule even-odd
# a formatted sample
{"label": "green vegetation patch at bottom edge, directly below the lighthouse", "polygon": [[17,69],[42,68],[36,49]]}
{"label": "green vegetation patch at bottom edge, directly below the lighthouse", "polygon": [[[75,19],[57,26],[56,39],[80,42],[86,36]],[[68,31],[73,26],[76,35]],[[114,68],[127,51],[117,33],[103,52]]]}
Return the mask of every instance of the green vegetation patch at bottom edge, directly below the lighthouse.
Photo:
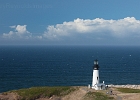
{"label": "green vegetation patch at bottom edge, directly below the lighthouse", "polygon": [[109,97],[101,92],[88,92],[84,100],[114,100],[114,97]]}

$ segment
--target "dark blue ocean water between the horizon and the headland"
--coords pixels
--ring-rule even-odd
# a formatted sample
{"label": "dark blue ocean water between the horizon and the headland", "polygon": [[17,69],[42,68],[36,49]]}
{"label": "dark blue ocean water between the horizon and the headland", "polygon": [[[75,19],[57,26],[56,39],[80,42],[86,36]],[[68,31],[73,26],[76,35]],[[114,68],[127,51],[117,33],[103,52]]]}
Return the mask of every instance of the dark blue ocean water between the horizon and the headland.
{"label": "dark blue ocean water between the horizon and the headland", "polygon": [[0,92],[34,86],[91,84],[93,61],[100,81],[140,84],[140,47],[0,46]]}

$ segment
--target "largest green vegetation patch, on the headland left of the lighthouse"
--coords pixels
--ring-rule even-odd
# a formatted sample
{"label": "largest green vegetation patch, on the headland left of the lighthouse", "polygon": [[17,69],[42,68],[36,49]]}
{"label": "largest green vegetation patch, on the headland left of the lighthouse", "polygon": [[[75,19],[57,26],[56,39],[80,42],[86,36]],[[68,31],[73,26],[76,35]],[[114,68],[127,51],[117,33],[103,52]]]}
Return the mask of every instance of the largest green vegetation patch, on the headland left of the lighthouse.
{"label": "largest green vegetation patch, on the headland left of the lighthouse", "polygon": [[74,90],[73,87],[32,87],[10,92],[17,93],[22,100],[34,100],[40,97],[64,96]]}

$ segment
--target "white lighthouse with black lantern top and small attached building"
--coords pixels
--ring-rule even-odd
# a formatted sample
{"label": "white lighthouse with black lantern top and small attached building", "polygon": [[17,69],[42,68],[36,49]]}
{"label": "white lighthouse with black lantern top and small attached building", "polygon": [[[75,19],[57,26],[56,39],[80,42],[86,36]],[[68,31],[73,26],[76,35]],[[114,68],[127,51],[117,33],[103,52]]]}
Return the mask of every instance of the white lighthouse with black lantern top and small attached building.
{"label": "white lighthouse with black lantern top and small attached building", "polygon": [[95,90],[105,89],[104,81],[103,81],[103,83],[100,83],[98,60],[94,60],[92,88]]}

